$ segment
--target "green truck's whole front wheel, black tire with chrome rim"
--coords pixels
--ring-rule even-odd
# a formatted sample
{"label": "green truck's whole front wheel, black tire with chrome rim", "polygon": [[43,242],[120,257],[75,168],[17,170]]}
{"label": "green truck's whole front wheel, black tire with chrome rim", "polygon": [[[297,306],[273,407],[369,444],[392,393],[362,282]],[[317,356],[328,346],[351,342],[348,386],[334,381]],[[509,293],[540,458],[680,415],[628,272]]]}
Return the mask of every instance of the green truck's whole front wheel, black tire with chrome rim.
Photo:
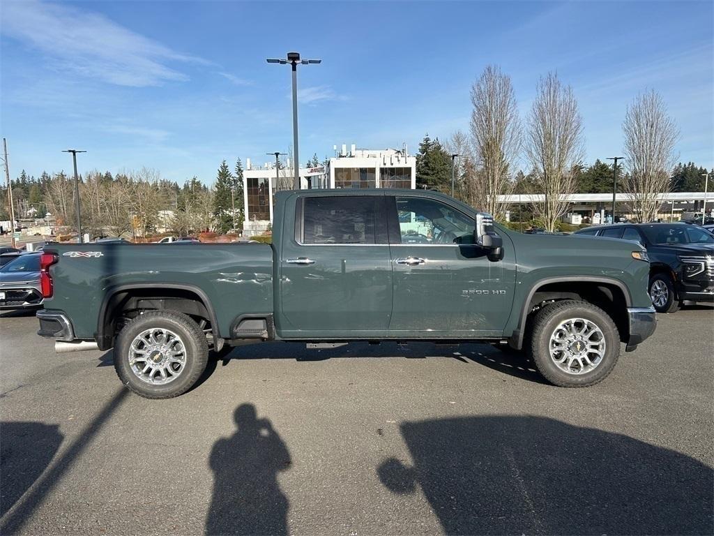
{"label": "green truck's whole front wheel, black tire with chrome rim", "polygon": [[535,367],[559,387],[588,387],[610,374],[620,357],[620,334],[603,309],[564,300],[535,314],[531,332]]}

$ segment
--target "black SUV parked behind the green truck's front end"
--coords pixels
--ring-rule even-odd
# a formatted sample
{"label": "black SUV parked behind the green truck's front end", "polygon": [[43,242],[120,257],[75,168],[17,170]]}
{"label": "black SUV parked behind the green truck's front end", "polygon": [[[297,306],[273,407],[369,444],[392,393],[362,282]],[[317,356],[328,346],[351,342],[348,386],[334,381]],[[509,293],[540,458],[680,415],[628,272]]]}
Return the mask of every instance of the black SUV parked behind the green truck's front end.
{"label": "black SUV parked behind the green truck's front end", "polygon": [[650,257],[650,297],[657,312],[681,302],[714,302],[714,234],[697,225],[613,224],[575,234],[639,242]]}

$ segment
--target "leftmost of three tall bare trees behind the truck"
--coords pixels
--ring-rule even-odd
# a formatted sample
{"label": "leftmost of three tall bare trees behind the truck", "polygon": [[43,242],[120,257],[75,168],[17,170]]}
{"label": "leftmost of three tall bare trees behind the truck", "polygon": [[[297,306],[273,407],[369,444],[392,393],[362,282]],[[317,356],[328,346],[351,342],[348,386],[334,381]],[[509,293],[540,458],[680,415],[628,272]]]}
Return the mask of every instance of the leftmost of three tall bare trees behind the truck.
{"label": "leftmost of three tall bare trees behind the truck", "polygon": [[511,77],[498,66],[489,65],[471,86],[471,137],[483,182],[479,205],[493,217],[501,218],[506,206],[498,196],[513,189],[511,169],[521,150],[521,122]]}

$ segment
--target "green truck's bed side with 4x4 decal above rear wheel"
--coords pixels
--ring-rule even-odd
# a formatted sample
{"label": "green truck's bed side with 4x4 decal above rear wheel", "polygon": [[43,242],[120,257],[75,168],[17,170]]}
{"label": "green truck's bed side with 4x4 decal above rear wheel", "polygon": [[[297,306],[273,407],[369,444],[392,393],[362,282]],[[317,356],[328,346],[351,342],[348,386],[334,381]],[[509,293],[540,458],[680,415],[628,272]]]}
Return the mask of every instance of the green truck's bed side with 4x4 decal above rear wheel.
{"label": "green truck's bed side with 4x4 decal above rear wheel", "polygon": [[45,308],[69,314],[80,339],[94,338],[113,294],[137,287],[193,289],[226,334],[238,312],[273,312],[268,244],[47,244],[44,251],[59,257],[50,268],[54,296]]}

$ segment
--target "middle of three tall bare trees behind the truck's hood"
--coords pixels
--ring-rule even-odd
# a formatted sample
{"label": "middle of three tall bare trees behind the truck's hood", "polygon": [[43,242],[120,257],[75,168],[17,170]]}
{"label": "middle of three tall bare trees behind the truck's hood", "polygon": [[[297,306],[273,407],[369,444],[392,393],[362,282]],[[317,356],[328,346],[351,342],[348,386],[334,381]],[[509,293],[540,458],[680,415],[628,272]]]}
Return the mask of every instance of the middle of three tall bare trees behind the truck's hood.
{"label": "middle of three tall bare trees behind the truck's hood", "polygon": [[526,154],[533,166],[535,187],[544,195],[533,206],[536,217],[553,232],[575,192],[577,164],[583,159],[583,122],[573,89],[548,73],[538,82],[528,119]]}

